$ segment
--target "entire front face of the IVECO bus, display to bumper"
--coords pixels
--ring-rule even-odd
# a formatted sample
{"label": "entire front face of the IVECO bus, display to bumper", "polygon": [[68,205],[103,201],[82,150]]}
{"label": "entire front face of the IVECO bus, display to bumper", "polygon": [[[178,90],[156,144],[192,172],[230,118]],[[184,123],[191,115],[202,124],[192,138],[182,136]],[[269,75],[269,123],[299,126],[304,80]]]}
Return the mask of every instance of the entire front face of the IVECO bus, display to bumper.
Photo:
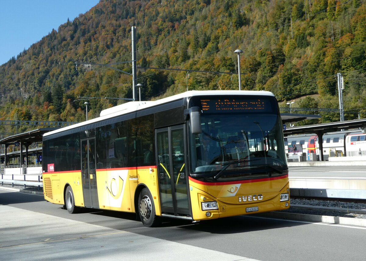
{"label": "entire front face of the IVECO bus, display to bumper", "polygon": [[193,219],[289,207],[277,101],[269,92],[246,94],[189,101],[191,110],[200,112],[199,120],[191,119],[189,136],[190,196],[192,206],[197,206]]}

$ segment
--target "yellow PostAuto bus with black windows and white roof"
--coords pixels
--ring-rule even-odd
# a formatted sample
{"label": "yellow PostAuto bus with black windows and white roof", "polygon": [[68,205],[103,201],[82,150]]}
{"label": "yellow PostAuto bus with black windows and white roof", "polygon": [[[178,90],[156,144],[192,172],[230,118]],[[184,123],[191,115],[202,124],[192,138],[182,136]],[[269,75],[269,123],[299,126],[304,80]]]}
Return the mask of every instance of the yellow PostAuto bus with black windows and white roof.
{"label": "yellow PostAuto bus with black windows and white roof", "polygon": [[44,197],[70,213],[137,213],[147,227],[287,209],[282,127],[265,91],[121,104],[44,135]]}

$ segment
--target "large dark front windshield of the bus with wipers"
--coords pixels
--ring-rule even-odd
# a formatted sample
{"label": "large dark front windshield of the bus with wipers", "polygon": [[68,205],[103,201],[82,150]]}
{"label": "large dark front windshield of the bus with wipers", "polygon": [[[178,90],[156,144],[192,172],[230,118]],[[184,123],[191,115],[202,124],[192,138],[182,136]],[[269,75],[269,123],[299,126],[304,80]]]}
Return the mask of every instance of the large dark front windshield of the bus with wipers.
{"label": "large dark front windshield of the bus with wipers", "polygon": [[287,173],[277,112],[203,113],[201,126],[202,133],[190,138],[192,177],[231,181]]}

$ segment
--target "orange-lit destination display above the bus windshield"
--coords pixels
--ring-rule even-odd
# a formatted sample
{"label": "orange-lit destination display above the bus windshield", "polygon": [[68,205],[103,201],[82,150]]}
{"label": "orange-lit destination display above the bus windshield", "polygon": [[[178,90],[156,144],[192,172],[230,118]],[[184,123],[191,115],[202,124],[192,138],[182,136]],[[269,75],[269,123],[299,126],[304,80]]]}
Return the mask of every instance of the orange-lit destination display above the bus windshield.
{"label": "orange-lit destination display above the bus windshield", "polygon": [[227,113],[238,111],[270,111],[267,99],[202,99],[203,113]]}

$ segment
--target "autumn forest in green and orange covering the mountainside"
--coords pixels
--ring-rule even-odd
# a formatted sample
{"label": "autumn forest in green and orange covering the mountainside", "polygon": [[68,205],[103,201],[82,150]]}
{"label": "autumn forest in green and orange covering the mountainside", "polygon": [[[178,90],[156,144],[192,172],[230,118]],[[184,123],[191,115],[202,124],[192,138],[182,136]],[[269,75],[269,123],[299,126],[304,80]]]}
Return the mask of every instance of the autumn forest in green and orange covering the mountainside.
{"label": "autumn forest in green and orange covering the mountainside", "polygon": [[[345,119],[366,118],[365,0],[101,0],[0,66],[0,120],[84,121],[79,96],[132,98],[122,72],[132,70],[132,26],[143,100],[238,89],[242,49],[242,89],[271,91],[280,107],[338,109],[341,73]],[[126,101],[88,102],[90,119]],[[321,115],[299,124],[339,121],[299,112]]]}

